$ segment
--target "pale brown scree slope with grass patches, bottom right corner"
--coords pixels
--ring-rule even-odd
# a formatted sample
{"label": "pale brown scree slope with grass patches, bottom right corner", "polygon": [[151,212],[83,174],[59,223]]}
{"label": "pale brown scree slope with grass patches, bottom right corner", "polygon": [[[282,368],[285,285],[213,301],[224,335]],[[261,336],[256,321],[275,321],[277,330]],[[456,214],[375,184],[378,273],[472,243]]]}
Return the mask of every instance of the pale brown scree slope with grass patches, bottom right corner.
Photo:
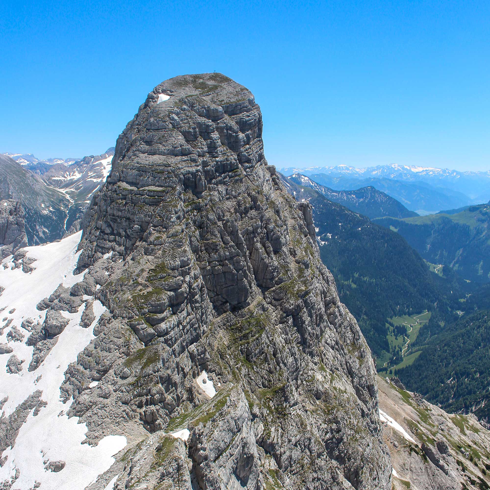
{"label": "pale brown scree slope with grass patches, bottom right corner", "polygon": [[490,488],[490,432],[474,415],[449,415],[398,378],[378,378],[393,489]]}

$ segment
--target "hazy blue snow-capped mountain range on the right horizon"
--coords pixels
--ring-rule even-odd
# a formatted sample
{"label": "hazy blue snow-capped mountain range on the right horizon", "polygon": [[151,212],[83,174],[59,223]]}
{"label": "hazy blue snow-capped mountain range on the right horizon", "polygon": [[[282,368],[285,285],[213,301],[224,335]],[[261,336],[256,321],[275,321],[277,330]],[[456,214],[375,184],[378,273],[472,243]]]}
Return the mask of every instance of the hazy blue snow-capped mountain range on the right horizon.
{"label": "hazy blue snow-capped mountain range on the right horizon", "polygon": [[373,186],[420,214],[480,204],[490,199],[490,171],[460,172],[397,164],[362,169],[338,165],[278,171],[286,176],[301,173],[336,190]]}

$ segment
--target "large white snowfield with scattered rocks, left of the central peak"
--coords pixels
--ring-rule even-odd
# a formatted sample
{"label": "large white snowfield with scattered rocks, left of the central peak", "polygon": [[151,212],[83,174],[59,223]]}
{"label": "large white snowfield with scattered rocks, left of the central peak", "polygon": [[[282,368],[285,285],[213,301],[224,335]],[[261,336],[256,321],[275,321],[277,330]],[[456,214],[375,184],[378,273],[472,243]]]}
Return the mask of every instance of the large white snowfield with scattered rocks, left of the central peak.
{"label": "large white snowfield with scattered rocks, left of the central peak", "polygon": [[[8,268],[0,267],[0,286],[5,288],[0,295],[0,308],[4,308],[0,318],[13,319],[0,336],[0,343],[8,343],[13,348],[12,353],[0,355],[0,399],[8,395],[2,417],[8,417],[36,390],[42,390],[41,399],[48,403],[37,416],[33,416],[31,411],[14,447],[7,448],[1,455],[2,458],[7,456],[7,460],[0,468],[0,482],[14,476],[16,469],[20,470],[12,489],[27,490],[39,482],[41,490],[82,490],[114,463],[112,456],[126,445],[126,438],[118,435],[105,437],[97,446],[82,444],[87,428],[85,424],[78,423],[77,417],[68,418],[66,415],[71,400],[65,404],[60,400],[60,386],[68,365],[76,362],[77,354],[94,338],[94,325],[105,311],[99,301],[94,303],[96,319],[89,328],[79,325],[84,304],[77,313],[61,312],[70,319],[70,323],[44,362],[36,370],[27,371],[33,347],[25,344],[29,332],[21,328],[22,320],[44,321],[46,311],[38,311],[37,303],[49,296],[60,283],[68,287],[82,279],[83,274],[73,275],[80,253],[76,252],[80,238],[81,232],[59,242],[27,247],[27,256],[36,259],[32,264],[36,269],[28,274],[22,269],[11,269],[9,260],[12,257],[3,261],[8,263]],[[0,328],[4,324],[2,321]],[[22,342],[7,342],[7,333],[14,325],[25,335]],[[18,374],[8,374],[5,368],[13,354],[25,360]],[[66,466],[59,472],[52,472],[45,469],[47,460],[62,460]]]}

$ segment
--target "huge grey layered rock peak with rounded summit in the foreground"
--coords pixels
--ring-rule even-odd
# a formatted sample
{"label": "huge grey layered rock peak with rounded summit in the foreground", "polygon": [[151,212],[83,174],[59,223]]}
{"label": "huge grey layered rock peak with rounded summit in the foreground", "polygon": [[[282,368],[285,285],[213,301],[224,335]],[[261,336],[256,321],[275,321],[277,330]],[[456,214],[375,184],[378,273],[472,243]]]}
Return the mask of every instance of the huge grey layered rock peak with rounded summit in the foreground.
{"label": "huge grey layered rock peak with rounded summit in the foreground", "polygon": [[88,441],[134,441],[105,480],[391,488],[368,346],[321,263],[310,205],[267,164],[245,87],[220,73],[155,87],[79,247],[87,289],[106,273],[109,311],[62,390]]}

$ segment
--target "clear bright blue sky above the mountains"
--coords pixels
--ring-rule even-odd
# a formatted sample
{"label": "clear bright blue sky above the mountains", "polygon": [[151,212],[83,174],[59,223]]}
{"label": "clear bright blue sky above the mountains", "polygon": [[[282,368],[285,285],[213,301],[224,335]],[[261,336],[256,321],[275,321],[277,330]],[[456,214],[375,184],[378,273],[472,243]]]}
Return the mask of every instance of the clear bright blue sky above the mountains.
{"label": "clear bright blue sky above the mountains", "polygon": [[490,169],[490,2],[10,1],[0,152],[113,146],[155,85],[249,88],[278,167]]}

